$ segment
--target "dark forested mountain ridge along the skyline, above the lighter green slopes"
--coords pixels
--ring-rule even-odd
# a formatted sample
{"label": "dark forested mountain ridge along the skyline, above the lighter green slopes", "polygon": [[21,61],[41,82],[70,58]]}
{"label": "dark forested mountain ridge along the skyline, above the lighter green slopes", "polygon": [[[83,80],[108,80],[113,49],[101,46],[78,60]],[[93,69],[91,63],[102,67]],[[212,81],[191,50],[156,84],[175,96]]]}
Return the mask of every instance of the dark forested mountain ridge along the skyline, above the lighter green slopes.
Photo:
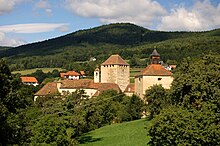
{"label": "dark forested mountain ridge along the skyline, above the lighter green slopes", "polygon": [[[213,30],[215,31],[215,30]],[[219,31],[217,29],[217,31]],[[91,29],[78,30],[64,36],[21,45],[6,50],[0,50],[0,57],[14,55],[39,55],[39,51],[50,53],[68,46],[78,46],[82,43],[107,43],[133,46],[141,43],[155,43],[173,38],[189,37],[192,34],[205,34],[205,32],[165,32],[149,30],[131,23],[114,23],[102,25]],[[217,33],[219,35],[220,33]]]}

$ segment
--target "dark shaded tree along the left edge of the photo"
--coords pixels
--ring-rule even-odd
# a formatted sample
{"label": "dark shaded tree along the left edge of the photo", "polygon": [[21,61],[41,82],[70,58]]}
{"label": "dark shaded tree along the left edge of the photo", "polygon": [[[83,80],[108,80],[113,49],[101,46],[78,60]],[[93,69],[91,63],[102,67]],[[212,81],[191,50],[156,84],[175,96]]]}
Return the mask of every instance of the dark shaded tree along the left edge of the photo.
{"label": "dark shaded tree along the left edge of the photo", "polygon": [[[0,60],[0,144],[19,144],[25,134],[21,110],[32,104],[31,92]],[[23,122],[22,122],[23,121]]]}

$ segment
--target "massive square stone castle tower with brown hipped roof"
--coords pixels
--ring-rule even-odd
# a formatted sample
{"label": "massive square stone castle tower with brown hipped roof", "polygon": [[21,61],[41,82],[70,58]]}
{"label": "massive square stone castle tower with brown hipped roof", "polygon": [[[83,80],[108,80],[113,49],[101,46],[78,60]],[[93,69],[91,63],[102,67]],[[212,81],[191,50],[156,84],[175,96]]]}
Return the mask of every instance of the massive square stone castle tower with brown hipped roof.
{"label": "massive square stone castle tower with brown hipped roof", "polygon": [[119,55],[110,56],[101,65],[101,82],[116,83],[123,92],[130,83],[130,66]]}

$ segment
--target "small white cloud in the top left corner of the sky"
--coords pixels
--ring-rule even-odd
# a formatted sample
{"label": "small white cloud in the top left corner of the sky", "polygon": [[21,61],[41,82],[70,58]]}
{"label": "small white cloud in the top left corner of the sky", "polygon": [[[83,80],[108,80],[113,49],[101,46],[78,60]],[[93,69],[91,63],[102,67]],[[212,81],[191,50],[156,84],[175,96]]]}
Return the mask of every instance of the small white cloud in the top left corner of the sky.
{"label": "small white cloud in the top left corner of the sky", "polygon": [[26,0],[0,0],[0,15],[4,15],[13,10],[14,6]]}

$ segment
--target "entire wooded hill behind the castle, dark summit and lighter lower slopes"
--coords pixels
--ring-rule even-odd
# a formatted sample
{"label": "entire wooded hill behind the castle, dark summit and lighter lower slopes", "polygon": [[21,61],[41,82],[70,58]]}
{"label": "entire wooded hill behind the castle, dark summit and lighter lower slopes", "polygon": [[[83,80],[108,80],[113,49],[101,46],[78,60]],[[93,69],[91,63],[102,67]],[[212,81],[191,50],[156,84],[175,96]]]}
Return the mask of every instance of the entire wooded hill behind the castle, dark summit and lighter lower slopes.
{"label": "entire wooded hill behind the castle, dark summit and lighter lower slopes", "polygon": [[[220,53],[220,29],[206,32],[164,32],[116,23],[80,30],[54,39],[0,49],[12,70],[36,67],[75,68],[75,63],[95,57],[99,64],[112,54],[145,66],[154,48],[162,60],[180,62],[188,56]],[[85,65],[84,65],[85,66]],[[91,66],[91,65],[90,65]]]}

